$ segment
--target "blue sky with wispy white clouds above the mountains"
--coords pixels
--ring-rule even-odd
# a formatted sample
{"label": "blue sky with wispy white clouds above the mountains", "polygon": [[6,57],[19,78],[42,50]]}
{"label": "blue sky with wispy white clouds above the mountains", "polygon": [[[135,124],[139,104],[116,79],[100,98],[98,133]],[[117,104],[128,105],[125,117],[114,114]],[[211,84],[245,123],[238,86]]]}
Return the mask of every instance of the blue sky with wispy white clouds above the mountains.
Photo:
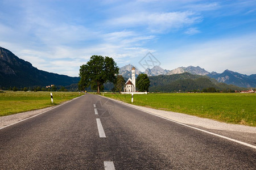
{"label": "blue sky with wispy white clouds above the mountains", "polygon": [[163,69],[256,74],[256,1],[0,0],[0,46],[40,70],[78,76],[90,56],[119,67],[148,52]]}

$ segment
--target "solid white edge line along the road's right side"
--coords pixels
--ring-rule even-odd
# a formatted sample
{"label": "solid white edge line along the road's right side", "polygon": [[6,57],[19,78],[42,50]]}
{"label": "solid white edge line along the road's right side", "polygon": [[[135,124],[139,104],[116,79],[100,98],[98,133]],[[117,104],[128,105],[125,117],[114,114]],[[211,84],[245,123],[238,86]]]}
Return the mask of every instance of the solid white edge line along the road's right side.
{"label": "solid white edge line along the road's right side", "polygon": [[[104,97],[104,96],[101,96],[101,97]],[[105,97],[105,98],[111,99],[111,98],[109,98],[109,97]],[[112,99],[112,100],[113,100],[113,99]],[[116,101],[116,100],[114,100],[114,101]],[[146,113],[148,113],[148,114],[152,114],[152,115],[154,115],[154,116],[163,118],[163,119],[165,119],[165,120],[168,120],[168,121],[171,121],[171,122],[175,122],[176,124],[180,124],[180,125],[183,125],[183,126],[187,126],[188,128],[192,128],[192,129],[196,129],[196,130],[199,130],[199,131],[203,131],[204,133],[208,133],[208,134],[214,135],[214,136],[216,136],[216,137],[224,138],[224,139],[227,139],[227,140],[229,140],[229,141],[233,141],[233,142],[236,142],[236,143],[240,143],[241,145],[249,146],[249,147],[251,147],[251,148],[255,148],[255,149],[256,149],[256,146],[250,145],[249,143],[245,143],[245,142],[242,142],[242,141],[238,141],[238,140],[236,140],[236,139],[232,139],[232,138],[229,138],[229,137],[225,137],[225,136],[223,136],[223,135],[219,135],[219,134],[216,134],[216,133],[212,133],[212,132],[207,131],[207,130],[195,128],[195,127],[193,127],[193,126],[189,126],[189,125],[186,125],[186,124],[183,124],[183,123],[180,123],[180,122],[171,120],[170,118],[166,118],[166,117],[163,117],[163,116],[159,116],[159,115],[157,115],[157,114],[154,114],[154,113],[151,113],[151,112],[148,112],[148,111],[143,111],[142,109],[133,107],[133,106],[131,106],[131,105],[129,105],[129,104],[126,104],[126,103],[124,103],[124,102],[122,102],[122,101],[116,101],[116,102],[121,103],[121,104],[124,104],[124,105],[127,105],[127,106],[129,106],[129,107],[131,107],[131,108],[134,108],[134,109],[137,109],[137,110],[139,110],[139,111],[146,112]]]}

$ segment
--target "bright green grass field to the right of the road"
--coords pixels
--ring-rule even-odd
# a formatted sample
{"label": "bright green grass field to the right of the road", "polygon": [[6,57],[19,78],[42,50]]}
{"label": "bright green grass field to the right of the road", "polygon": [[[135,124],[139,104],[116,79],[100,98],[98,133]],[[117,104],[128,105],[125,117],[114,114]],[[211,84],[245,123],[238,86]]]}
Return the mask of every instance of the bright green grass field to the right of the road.
{"label": "bright green grass field to the right of the road", "polygon": [[[131,95],[104,96],[131,103]],[[213,120],[256,126],[256,94],[147,94],[134,95],[135,105]]]}

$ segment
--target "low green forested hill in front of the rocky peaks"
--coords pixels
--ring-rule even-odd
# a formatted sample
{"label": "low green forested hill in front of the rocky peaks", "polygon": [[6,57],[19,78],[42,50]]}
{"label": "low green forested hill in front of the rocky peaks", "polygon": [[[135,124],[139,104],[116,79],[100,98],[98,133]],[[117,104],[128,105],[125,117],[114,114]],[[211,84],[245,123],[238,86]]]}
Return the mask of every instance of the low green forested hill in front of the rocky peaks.
{"label": "low green forested hill in front of the rocky peaks", "polygon": [[244,88],[218,83],[208,76],[195,75],[190,73],[149,76],[150,92],[175,92],[175,91],[202,91],[213,87],[219,91],[243,90]]}

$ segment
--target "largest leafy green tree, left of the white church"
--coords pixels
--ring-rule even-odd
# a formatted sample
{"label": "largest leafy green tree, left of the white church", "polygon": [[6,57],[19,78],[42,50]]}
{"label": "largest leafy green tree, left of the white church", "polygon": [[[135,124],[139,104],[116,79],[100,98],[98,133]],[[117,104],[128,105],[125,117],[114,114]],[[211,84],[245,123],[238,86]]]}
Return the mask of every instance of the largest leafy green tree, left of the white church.
{"label": "largest leafy green tree, left of the white church", "polygon": [[81,77],[79,88],[91,87],[92,90],[100,91],[104,89],[104,83],[115,82],[118,74],[117,63],[111,57],[92,56],[86,65],[80,66]]}

